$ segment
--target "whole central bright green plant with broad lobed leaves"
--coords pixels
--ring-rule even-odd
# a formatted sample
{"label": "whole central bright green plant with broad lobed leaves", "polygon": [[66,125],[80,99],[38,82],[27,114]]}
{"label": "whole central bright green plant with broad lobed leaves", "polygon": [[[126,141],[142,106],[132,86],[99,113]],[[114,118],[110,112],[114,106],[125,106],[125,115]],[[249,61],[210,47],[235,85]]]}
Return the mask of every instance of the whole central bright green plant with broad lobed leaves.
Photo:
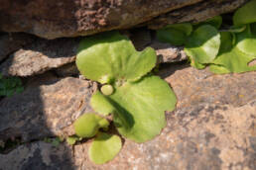
{"label": "whole central bright green plant with broad lobed leaves", "polygon": [[[117,32],[80,42],[76,56],[79,71],[102,85],[101,92],[95,92],[90,101],[102,117],[86,113],[74,123],[78,136],[96,136],[89,148],[94,163],[111,160],[122,145],[118,135],[102,132],[109,125],[104,116],[111,114],[118,132],[136,142],[152,139],[166,126],[165,111],[173,111],[177,100],[169,84],[150,73],[156,61],[153,48],[137,51]],[[75,138],[68,140],[73,143]]]}

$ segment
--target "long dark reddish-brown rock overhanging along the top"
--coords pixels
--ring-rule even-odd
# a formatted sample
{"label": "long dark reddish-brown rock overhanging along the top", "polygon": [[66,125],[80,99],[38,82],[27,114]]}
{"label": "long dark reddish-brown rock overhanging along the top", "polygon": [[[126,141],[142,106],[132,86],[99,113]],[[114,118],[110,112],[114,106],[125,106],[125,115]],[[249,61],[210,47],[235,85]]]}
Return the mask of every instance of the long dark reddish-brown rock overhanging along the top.
{"label": "long dark reddish-brown rock overhanging along the top", "polygon": [[[168,15],[170,17],[166,15],[160,17],[155,23],[158,24],[159,21],[170,23],[170,20],[174,23],[173,18],[176,22],[178,20],[179,22],[199,21],[230,12],[245,1],[34,0],[24,2],[1,0],[0,30],[26,32],[46,39],[84,36],[131,28],[177,9],[181,10],[171,12]],[[155,23],[153,25],[156,25]]]}

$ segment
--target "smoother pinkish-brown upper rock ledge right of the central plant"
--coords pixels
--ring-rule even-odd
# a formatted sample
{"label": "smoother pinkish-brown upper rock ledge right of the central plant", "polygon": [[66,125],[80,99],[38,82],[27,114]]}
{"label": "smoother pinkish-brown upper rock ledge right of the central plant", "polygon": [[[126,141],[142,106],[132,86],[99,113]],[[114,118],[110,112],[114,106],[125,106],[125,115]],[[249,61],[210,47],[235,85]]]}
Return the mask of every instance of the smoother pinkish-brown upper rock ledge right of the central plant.
{"label": "smoother pinkish-brown upper rock ledge right of the central plant", "polygon": [[172,85],[179,101],[178,108],[202,103],[240,107],[256,99],[255,71],[215,75],[189,64],[175,63],[161,70],[160,75]]}

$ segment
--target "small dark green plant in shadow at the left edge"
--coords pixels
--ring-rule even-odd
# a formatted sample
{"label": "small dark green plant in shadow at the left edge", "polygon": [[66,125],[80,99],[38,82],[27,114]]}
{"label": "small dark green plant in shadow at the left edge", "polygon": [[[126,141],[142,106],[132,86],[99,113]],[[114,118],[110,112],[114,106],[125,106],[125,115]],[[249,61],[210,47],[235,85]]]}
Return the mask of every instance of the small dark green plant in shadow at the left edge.
{"label": "small dark green plant in shadow at the left edge", "polygon": [[7,96],[10,97],[15,93],[23,92],[24,88],[22,86],[21,79],[17,77],[3,77],[0,73],[0,97]]}

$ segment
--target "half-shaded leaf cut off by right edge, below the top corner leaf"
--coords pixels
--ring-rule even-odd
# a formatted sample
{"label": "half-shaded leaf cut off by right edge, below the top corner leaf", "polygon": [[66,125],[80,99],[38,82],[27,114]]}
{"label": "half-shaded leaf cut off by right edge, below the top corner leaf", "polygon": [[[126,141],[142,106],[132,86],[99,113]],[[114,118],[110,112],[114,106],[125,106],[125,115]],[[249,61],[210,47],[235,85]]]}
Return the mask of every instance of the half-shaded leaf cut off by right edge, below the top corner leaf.
{"label": "half-shaded leaf cut off by right edge, below the top corner leaf", "polygon": [[256,55],[256,35],[251,32],[248,25],[244,32],[237,34],[237,48],[249,55]]}

